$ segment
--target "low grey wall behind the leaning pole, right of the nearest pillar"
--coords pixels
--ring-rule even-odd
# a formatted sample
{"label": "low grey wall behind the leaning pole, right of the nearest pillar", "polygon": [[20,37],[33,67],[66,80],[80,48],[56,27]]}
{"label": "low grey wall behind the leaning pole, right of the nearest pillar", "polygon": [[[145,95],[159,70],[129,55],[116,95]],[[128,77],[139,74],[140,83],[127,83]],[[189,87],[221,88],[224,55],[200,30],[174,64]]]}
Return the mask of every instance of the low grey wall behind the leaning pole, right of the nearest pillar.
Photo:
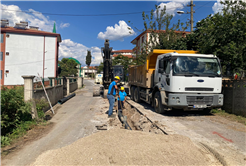
{"label": "low grey wall behind the leaning pole, right of the nearest pillar", "polygon": [[[55,105],[58,102],[58,100],[64,97],[63,96],[63,85],[47,87],[46,92],[49,96],[49,99],[52,105]],[[34,91],[33,98],[38,99],[38,100],[44,98],[45,100],[47,100],[43,89],[36,89]]]}

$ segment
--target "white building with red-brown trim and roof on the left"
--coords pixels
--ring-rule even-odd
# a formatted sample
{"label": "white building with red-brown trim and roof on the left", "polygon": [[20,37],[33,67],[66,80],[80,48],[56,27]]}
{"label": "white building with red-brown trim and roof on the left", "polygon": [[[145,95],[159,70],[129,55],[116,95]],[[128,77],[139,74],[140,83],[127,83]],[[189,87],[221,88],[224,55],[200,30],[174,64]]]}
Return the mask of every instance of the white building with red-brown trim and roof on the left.
{"label": "white building with red-brown trim and roof on the left", "polygon": [[57,77],[59,42],[60,34],[0,20],[0,85],[22,85],[23,75]]}

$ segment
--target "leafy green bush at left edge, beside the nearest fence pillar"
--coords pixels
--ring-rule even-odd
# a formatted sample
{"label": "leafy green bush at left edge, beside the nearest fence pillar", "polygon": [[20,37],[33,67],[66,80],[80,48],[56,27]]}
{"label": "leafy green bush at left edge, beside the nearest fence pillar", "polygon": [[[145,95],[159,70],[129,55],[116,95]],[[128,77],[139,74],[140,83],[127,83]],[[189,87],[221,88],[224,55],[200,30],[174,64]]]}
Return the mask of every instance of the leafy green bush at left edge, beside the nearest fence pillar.
{"label": "leafy green bush at left edge, beside the nearest fence pillar", "polygon": [[22,121],[31,120],[31,105],[24,102],[24,88],[0,90],[0,135],[11,132]]}

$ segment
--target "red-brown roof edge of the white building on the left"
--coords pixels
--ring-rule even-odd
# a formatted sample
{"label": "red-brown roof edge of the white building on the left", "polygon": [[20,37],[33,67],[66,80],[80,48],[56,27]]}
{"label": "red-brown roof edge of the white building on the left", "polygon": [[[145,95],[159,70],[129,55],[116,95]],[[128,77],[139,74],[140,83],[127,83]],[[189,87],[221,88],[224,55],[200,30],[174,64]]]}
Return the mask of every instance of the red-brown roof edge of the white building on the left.
{"label": "red-brown roof edge of the white building on the left", "polygon": [[0,33],[18,33],[18,34],[29,34],[29,35],[40,35],[40,36],[55,36],[57,41],[61,42],[61,35],[58,33],[46,32],[34,29],[17,29],[14,27],[0,27]]}

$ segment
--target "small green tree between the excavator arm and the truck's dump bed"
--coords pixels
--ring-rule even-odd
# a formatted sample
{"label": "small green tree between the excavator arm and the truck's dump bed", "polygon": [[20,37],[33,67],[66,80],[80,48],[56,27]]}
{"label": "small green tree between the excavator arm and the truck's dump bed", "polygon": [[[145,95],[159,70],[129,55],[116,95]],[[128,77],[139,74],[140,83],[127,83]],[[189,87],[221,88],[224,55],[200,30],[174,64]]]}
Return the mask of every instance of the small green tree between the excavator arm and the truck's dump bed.
{"label": "small green tree between the excavator arm and the truck's dump bed", "polygon": [[127,81],[128,77],[127,77],[127,73],[128,73],[128,67],[129,65],[134,64],[134,61],[132,58],[128,58],[127,56],[123,56],[123,55],[118,55],[116,56],[113,61],[112,61],[112,65],[122,65],[124,66],[124,78]]}

